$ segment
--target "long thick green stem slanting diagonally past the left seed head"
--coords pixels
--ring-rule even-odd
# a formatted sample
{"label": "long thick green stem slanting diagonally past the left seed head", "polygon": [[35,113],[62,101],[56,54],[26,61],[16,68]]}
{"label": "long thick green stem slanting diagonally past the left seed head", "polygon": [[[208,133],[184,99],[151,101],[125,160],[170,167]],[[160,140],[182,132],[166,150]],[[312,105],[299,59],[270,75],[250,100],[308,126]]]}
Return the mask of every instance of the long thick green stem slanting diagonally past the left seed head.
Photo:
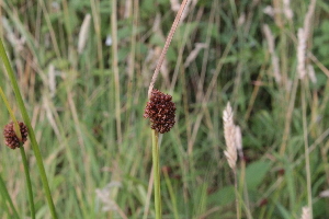
{"label": "long thick green stem slanting diagonally past the left seed head", "polygon": [[22,95],[21,95],[21,92],[20,92],[20,89],[19,89],[19,84],[16,82],[14,72],[11,68],[10,62],[9,62],[9,59],[8,59],[8,56],[5,54],[4,46],[3,46],[3,43],[2,43],[1,38],[0,38],[0,56],[1,56],[1,59],[2,59],[3,65],[5,67],[7,73],[10,78],[11,84],[13,87],[13,91],[15,93],[16,102],[18,102],[19,107],[21,110],[22,117],[24,119],[25,125],[27,126],[29,137],[31,139],[31,146],[32,146],[32,149],[33,149],[33,152],[34,152],[34,155],[35,155],[35,160],[36,160],[36,164],[37,164],[37,168],[38,168],[38,171],[39,171],[39,174],[41,174],[41,178],[42,178],[42,182],[43,182],[43,186],[44,186],[45,195],[46,195],[47,203],[48,203],[48,206],[49,206],[49,209],[50,209],[50,214],[52,214],[54,219],[57,219],[57,215],[56,215],[55,206],[54,206],[54,203],[53,203],[53,197],[52,197],[52,194],[50,194],[50,188],[49,188],[46,171],[45,171],[45,168],[44,168],[43,159],[42,159],[42,155],[41,155],[39,147],[38,147],[38,143],[36,142],[35,135],[34,135],[34,131],[33,131],[33,128],[32,128],[32,125],[31,125],[31,120],[30,120],[27,111],[25,108],[25,105],[24,105],[24,102],[23,102],[23,99],[22,99]]}

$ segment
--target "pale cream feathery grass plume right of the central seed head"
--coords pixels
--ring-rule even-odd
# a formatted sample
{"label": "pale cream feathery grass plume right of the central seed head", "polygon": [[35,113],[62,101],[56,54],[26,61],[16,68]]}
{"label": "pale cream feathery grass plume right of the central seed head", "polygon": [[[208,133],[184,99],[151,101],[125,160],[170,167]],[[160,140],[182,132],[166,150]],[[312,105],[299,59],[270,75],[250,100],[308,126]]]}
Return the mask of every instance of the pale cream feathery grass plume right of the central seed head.
{"label": "pale cream feathery grass plume right of the central seed head", "polygon": [[226,108],[223,112],[223,120],[224,120],[224,137],[226,142],[226,151],[224,154],[227,159],[228,165],[235,170],[237,163],[237,148],[236,148],[236,127],[232,120],[232,110],[227,103]]}

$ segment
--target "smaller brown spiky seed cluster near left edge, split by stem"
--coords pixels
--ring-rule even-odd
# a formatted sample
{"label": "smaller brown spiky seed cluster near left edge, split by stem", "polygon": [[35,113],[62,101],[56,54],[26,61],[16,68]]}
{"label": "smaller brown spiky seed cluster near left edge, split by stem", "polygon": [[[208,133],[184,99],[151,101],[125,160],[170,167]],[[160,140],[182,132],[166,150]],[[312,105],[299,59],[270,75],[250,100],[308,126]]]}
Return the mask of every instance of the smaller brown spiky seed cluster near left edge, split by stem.
{"label": "smaller brown spiky seed cluster near left edge, split by stem", "polygon": [[7,124],[3,129],[4,143],[11,149],[20,148],[20,142],[24,143],[27,140],[27,127],[22,122],[19,122],[19,126],[22,140],[19,139],[14,131],[13,123]]}

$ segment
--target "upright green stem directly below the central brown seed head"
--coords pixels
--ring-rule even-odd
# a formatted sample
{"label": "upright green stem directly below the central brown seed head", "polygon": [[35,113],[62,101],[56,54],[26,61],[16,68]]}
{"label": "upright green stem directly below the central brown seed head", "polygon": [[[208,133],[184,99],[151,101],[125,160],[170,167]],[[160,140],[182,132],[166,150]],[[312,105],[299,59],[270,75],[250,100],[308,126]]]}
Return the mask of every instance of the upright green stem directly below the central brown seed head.
{"label": "upright green stem directly below the central brown seed head", "polygon": [[154,160],[154,181],[155,181],[155,205],[156,219],[161,219],[161,193],[160,193],[160,168],[159,168],[159,134],[152,129],[152,160]]}

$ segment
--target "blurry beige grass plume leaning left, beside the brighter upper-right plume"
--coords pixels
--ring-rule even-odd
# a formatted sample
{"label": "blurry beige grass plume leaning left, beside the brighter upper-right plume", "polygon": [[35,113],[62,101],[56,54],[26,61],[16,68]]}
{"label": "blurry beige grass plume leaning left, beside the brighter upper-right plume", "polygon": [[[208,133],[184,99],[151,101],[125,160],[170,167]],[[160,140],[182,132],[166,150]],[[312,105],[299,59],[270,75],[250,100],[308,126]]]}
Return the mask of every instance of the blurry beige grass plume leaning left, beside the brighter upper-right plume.
{"label": "blurry beige grass plume leaning left, beside the brighter upper-right plume", "polygon": [[279,58],[275,54],[275,48],[274,48],[274,36],[269,27],[268,24],[263,25],[263,32],[265,34],[265,38],[269,45],[269,51],[271,54],[271,61],[272,61],[272,68],[273,68],[273,74],[275,78],[276,83],[281,82],[281,72],[279,68]]}

